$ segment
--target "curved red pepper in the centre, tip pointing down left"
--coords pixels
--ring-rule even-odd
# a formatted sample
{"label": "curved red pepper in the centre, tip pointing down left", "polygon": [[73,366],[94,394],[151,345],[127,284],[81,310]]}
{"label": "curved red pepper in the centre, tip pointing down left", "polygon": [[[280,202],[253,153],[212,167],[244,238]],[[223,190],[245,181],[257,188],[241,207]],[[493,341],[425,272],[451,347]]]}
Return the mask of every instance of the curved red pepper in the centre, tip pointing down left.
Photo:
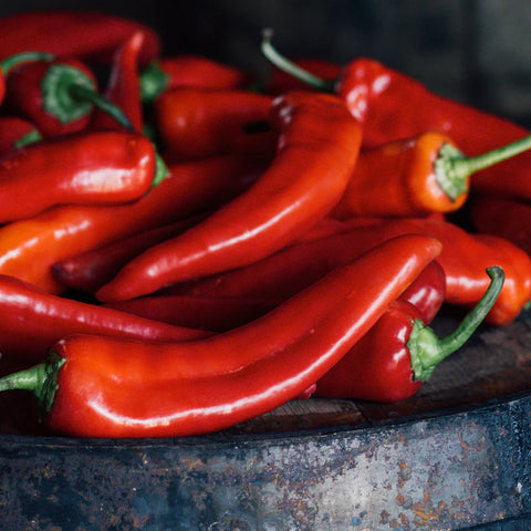
{"label": "curved red pepper in the centre, tip pointing down left", "polygon": [[254,185],[181,236],[129,262],[97,291],[104,302],[251,263],[282,249],[344,192],[362,129],[334,96],[291,93],[273,104],[279,150]]}

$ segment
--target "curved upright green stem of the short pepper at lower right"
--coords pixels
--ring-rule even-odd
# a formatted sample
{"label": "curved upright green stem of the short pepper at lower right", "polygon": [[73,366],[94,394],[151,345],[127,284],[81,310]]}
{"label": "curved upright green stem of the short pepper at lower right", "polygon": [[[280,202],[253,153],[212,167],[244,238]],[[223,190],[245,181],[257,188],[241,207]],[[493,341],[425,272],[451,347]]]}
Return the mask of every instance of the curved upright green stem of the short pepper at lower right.
{"label": "curved upright green stem of the short pepper at lower right", "polygon": [[487,268],[487,274],[491,279],[489,288],[451,334],[439,339],[420,320],[415,321],[407,342],[415,379],[423,382],[429,379],[435,367],[460,348],[485,320],[497,301],[506,278],[503,270],[498,266]]}

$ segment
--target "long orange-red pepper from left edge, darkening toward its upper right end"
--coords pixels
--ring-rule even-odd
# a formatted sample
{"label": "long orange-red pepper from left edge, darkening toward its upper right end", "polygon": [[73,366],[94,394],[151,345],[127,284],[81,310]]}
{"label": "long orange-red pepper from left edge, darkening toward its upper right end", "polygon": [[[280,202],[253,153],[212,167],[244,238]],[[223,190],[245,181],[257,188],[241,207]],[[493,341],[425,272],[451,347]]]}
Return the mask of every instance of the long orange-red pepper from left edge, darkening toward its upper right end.
{"label": "long orange-red pepper from left edge, darkening toward its upper right end", "polygon": [[59,206],[0,227],[0,273],[61,293],[53,263],[211,209],[249,187],[257,164],[225,156],[170,166],[170,176],[131,205]]}

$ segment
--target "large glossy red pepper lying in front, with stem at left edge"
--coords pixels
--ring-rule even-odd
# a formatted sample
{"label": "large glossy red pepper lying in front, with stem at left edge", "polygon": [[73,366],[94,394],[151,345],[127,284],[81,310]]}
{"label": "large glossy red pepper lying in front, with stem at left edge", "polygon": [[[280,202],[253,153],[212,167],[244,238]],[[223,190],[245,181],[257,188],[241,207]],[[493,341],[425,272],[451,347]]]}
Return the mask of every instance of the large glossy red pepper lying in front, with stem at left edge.
{"label": "large glossy red pepper lying in front, with stem at left edge", "polygon": [[[0,391],[32,391],[46,424],[74,436],[185,436],[221,429],[304,393],[440,249],[433,238],[396,238],[263,317],[205,340],[71,336],[52,347],[48,363],[1,378]],[[376,281],[374,271],[379,272]]]}

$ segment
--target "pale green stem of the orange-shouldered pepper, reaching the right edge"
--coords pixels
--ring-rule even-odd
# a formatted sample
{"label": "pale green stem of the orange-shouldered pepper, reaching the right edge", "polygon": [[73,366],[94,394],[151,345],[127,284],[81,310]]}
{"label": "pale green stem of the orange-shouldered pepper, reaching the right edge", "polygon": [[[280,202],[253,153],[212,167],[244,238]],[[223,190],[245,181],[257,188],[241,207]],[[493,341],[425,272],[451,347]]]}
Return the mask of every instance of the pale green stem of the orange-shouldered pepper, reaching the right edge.
{"label": "pale green stem of the orange-shouldered pepper, reaching the right edge", "polygon": [[468,189],[468,178],[485,168],[501,163],[508,158],[531,148],[531,135],[498,147],[490,152],[466,157],[459,149],[445,144],[435,162],[435,176],[440,188],[451,200]]}

